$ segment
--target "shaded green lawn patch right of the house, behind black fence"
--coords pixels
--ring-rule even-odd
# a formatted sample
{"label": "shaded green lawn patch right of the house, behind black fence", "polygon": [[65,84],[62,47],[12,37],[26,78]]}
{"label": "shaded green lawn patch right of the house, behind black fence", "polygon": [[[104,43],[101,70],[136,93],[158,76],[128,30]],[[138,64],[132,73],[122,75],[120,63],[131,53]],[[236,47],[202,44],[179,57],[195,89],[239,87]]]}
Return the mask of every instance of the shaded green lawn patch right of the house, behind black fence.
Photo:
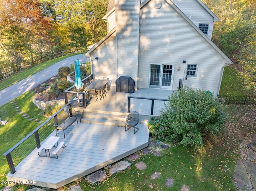
{"label": "shaded green lawn patch right of the house, behind black fence", "polygon": [[244,81],[238,77],[238,72],[232,66],[224,68],[220,95],[246,96],[253,95],[244,89]]}

